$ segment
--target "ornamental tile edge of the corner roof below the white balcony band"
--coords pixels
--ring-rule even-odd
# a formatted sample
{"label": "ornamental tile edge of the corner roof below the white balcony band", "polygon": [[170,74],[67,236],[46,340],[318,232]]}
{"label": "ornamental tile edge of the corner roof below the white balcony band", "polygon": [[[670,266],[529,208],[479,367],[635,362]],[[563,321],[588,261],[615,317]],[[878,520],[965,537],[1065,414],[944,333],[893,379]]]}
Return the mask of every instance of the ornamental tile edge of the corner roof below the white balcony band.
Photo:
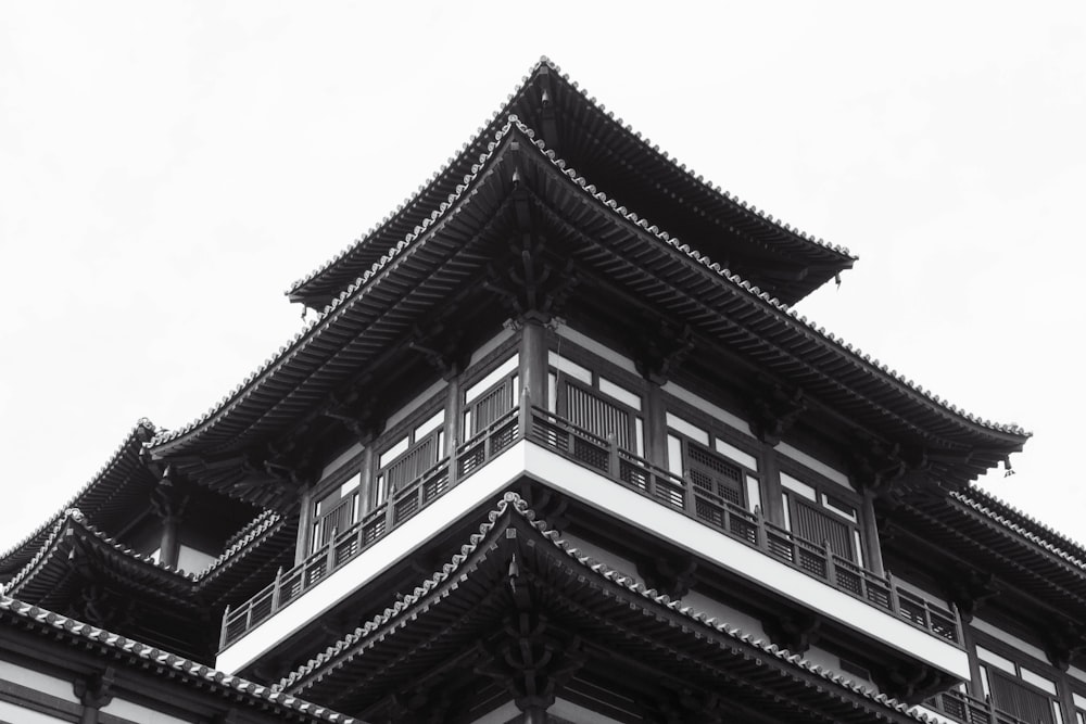
{"label": "ornamental tile edge of the corner roof below the white balcony band", "polygon": [[[374,617],[371,620],[367,621],[366,624],[359,626],[351,634],[348,634],[345,637],[341,638],[334,645],[328,647],[323,653],[317,655],[308,662],[306,662],[299,669],[294,670],[289,675],[285,676],[277,684],[274,684],[272,688],[276,691],[282,691],[287,687],[292,686],[293,684],[298,683],[299,681],[301,681],[302,678],[306,677],[310,674],[316,673],[317,676],[320,676],[323,672],[320,672],[319,670],[325,665],[330,665],[332,669],[338,669],[340,664],[332,663],[332,659],[336,656],[349,649],[350,647],[354,646],[362,639],[366,638],[370,633],[375,632],[377,628],[390,623],[394,618],[401,615],[404,611],[411,609],[416,604],[418,604],[420,598],[422,598],[422,596],[425,596],[427,592],[437,587],[442,582],[449,580],[450,575],[456,572],[456,570],[459,568],[459,564],[467,558],[467,556],[473,552],[476,549],[478,549],[479,545],[485,541],[488,534],[494,529],[497,520],[507,511],[516,512],[517,515],[526,519],[529,523],[532,524],[533,528],[535,528],[536,531],[543,534],[544,538],[551,541],[551,543],[554,545],[555,548],[560,550],[563,554],[568,556],[571,560],[573,560],[578,564],[583,566],[584,563],[582,561],[585,559],[590,561],[592,560],[590,557],[581,555],[574,546],[570,545],[564,538],[560,537],[559,532],[557,532],[555,529],[550,528],[547,523],[542,519],[539,519],[535,511],[532,510],[532,508],[529,506],[528,501],[525,500],[519,494],[513,492],[505,493],[502,496],[502,498],[497,501],[497,505],[494,508],[492,508],[491,511],[488,513],[487,522],[482,523],[479,526],[478,533],[470,536],[471,538],[477,538],[477,539],[473,541],[472,543],[465,545],[460,549],[462,555],[454,556],[452,563],[446,563],[445,566],[443,566],[440,571],[434,572],[429,579],[426,579],[426,581],[424,581],[421,586],[416,587],[415,590],[412,592],[409,595],[404,596],[404,598],[397,601],[394,607],[387,608],[383,613]],[[457,558],[459,558],[459,560],[457,560]],[[712,628],[714,631],[724,634],[725,636],[731,637],[735,640],[743,642],[744,644],[755,649],[758,649],[782,661],[786,661],[793,665],[804,669],[812,674],[822,677],[828,682],[832,682],[833,684],[842,688],[848,689],[854,694],[858,694],[871,701],[883,704],[888,709],[893,709],[898,713],[906,714],[921,722],[931,721],[926,714],[917,711],[913,707],[905,704],[898,701],[897,699],[887,697],[884,694],[875,691],[874,689],[871,689],[867,686],[857,684],[848,678],[841,676],[835,672],[824,670],[821,666],[818,666],[805,660],[803,657],[788,651],[787,649],[782,649],[773,644],[763,642],[760,638],[756,638],[754,636],[750,636],[749,634],[745,634],[734,626],[730,626],[727,623],[718,621],[714,617],[706,615],[700,611],[695,611],[692,607],[683,606],[681,605],[680,601],[672,601],[668,596],[660,595],[655,589],[647,588],[644,584],[609,568],[605,563],[593,561],[591,566],[588,566],[588,568],[601,574],[603,577],[623,586],[631,593],[642,596],[646,600],[649,600],[660,606],[665,606],[670,610],[679,612],[690,621]],[[403,622],[402,625],[406,625],[406,623],[407,622]]]}

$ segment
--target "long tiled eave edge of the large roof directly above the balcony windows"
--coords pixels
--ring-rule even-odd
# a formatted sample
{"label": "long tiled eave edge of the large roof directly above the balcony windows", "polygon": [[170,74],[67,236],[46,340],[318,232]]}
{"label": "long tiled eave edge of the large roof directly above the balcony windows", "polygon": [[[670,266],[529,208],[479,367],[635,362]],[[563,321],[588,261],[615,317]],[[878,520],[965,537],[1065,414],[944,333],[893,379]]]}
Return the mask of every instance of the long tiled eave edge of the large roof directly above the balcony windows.
{"label": "long tiled eave edge of the large roof directly above the balcony windows", "polygon": [[535,134],[532,129],[523,126],[518,118],[510,117],[495,134],[494,141],[488,145],[487,153],[480,156],[478,164],[471,166],[471,173],[464,177],[463,183],[456,186],[455,192],[449,196],[446,202],[435,208],[428,218],[424,219],[422,223],[414,229],[414,231],[408,233],[395,246],[389,249],[389,251],[380,259],[378,259],[369,270],[356,279],[354,283],[350,284],[342,292],[340,292],[340,294],[332,300],[332,302],[328,304],[315,319],[307,325],[304,325],[302,330],[300,330],[288,344],[279,348],[277,355],[265,360],[263,366],[245,378],[241,384],[235,388],[235,390],[226,395],[216,406],[211,407],[206,414],[178,430],[160,433],[151,442],[152,447],[162,446],[179,440],[180,437],[184,437],[201,428],[211,429],[216,424],[217,420],[223,418],[223,416],[229,415],[236,408],[241,407],[249,402],[250,398],[258,396],[257,392],[260,391],[261,385],[266,380],[274,377],[282,368],[287,367],[292,360],[298,358],[301,352],[306,348],[314,334],[332,325],[345,309],[364,299],[366,287],[371,280],[374,280],[382,271],[386,271],[393,266],[395,259],[404,254],[406,250],[413,249],[416,243],[426,239],[428,234],[432,232],[434,227],[440,221],[444,220],[450,214],[456,215],[459,213],[462,206],[458,204],[466,199],[480,169],[490,160],[491,154],[493,154],[494,150],[498,147],[502,140],[514,131],[527,136],[538,149],[539,153],[544,155],[554,167],[565,174],[570,181],[576,183],[581,190],[583,190],[584,193],[590,194],[599,204],[601,208],[605,208],[607,212],[621,217],[623,220],[641,227],[644,233],[656,239],[659,243],[670,246],[677,253],[692,259],[705,269],[710,270],[729,287],[745,294],[752,304],[763,305],[765,309],[779,315],[778,319],[783,322],[785,328],[783,331],[785,333],[791,335],[801,335],[804,339],[813,336],[828,348],[832,350],[835,354],[846,358],[849,361],[850,368],[861,370],[869,379],[883,381],[892,380],[897,385],[904,385],[909,391],[926,401],[926,404],[934,406],[936,409],[943,410],[944,414],[949,414],[952,419],[1016,437],[1024,439],[1030,435],[1028,432],[1016,424],[1002,424],[974,416],[942,398],[939,395],[936,395],[929,390],[925,390],[923,386],[915,384],[911,379],[907,379],[905,376],[898,373],[894,369],[891,369],[879,359],[875,359],[869,354],[863,353],[861,350],[854,347],[851,344],[848,344],[843,339],[834,335],[832,332],[828,332],[824,328],[816,326],[805,316],[798,315],[786,304],[761,291],[758,287],[752,285],[748,281],[731,272],[729,269],[714,263],[709,257],[690,247],[690,245],[683,243],[679,239],[671,237],[667,231],[659,229],[657,226],[648,223],[645,218],[640,217],[637,214],[619,205],[615,200],[608,199],[606,194],[597,191],[586,179],[579,176],[574,169],[569,168],[564,160],[557,157],[553,151],[547,150],[543,141],[536,140],[534,138]]}

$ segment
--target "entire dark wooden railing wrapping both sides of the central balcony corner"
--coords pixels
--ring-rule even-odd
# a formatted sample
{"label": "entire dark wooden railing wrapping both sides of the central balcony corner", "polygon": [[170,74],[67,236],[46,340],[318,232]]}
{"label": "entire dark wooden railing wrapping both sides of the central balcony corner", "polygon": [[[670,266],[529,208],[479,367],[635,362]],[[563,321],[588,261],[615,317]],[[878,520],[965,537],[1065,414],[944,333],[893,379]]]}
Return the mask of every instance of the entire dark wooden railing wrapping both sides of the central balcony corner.
{"label": "entire dark wooden railing wrapping both sides of the central balcony corner", "polygon": [[348,530],[334,531],[327,544],[289,571],[280,570],[270,585],[240,608],[228,608],[223,619],[220,648],[226,648],[298,599],[522,437],[961,646],[961,627],[956,611],[902,590],[892,576],[879,575],[842,558],[830,550],[828,544],[805,541],[766,520],[760,510],[752,512],[736,506],[620,448],[614,440],[578,428],[545,409],[525,404],[459,445],[451,458],[439,461],[393,493],[389,500],[363,516]]}

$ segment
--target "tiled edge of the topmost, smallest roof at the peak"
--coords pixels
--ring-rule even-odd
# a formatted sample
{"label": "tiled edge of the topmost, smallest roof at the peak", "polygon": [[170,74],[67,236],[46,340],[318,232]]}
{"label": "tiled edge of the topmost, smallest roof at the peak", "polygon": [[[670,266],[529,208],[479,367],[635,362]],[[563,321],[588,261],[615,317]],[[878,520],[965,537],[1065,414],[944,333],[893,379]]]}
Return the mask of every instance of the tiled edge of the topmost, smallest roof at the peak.
{"label": "tiled edge of the topmost, smallest roof at the peak", "polygon": [[416,191],[416,193],[406,198],[402,204],[396,206],[396,208],[392,213],[387,215],[379,224],[375,225],[374,227],[370,227],[370,229],[366,231],[366,233],[362,234],[358,239],[353,241],[338,254],[336,254],[330,259],[325,262],[325,264],[315,268],[308,275],[295,280],[294,283],[291,284],[290,289],[287,291],[287,294],[289,295],[295,294],[303,287],[305,287],[306,284],[311,283],[321,275],[332,269],[337,264],[340,264],[345,258],[350,257],[351,254],[354,253],[362,245],[367,243],[380,243],[379,241],[376,240],[383,233],[387,233],[389,231],[389,228],[392,227],[394,223],[406,221],[405,217],[409,217],[413,214],[425,217],[425,208],[427,206],[425,200],[427,196],[434,194],[435,186],[438,185],[439,180],[444,180],[446,174],[453,173],[452,172],[453,167],[464,165],[465,154],[471,153],[472,151],[478,149],[482,144],[488,135],[494,135],[498,131],[500,127],[504,123],[504,118],[507,117],[510,114],[510,112],[514,111],[516,99],[521,97],[528,90],[533,77],[544,67],[558,74],[564,81],[569,82],[572,86],[572,88],[580,93],[580,96],[583,98],[585,102],[598,109],[601,113],[606,113],[608,118],[614,119],[618,126],[620,126],[623,130],[626,130],[626,132],[641,140],[644,143],[645,148],[651,149],[652,152],[656,156],[658,156],[659,160],[667,162],[673,165],[674,167],[679,168],[689,178],[690,181],[696,182],[696,185],[704,187],[706,191],[717,194],[718,196],[721,198],[723,202],[725,202],[727,205],[733,206],[736,209],[743,209],[744,212],[747,212],[753,216],[762,219],[767,224],[775,226],[781,231],[787,232],[790,234],[795,234],[805,242],[815,246],[825,249],[830,252],[833,252],[834,254],[839,255],[843,258],[847,258],[849,261],[856,258],[844,246],[828,243],[823,241],[821,238],[817,239],[813,236],[808,234],[798,228],[794,228],[791,225],[783,223],[782,219],[774,218],[772,214],[768,214],[763,209],[759,211],[753,204],[748,205],[745,201],[741,200],[738,196],[725,190],[722,190],[719,185],[705,180],[703,176],[700,174],[697,174],[693,168],[687,168],[685,164],[679,163],[677,158],[670,156],[667,151],[661,151],[659,147],[653,144],[648,138],[642,138],[641,134],[634,130],[629,124],[624,123],[622,118],[615,118],[614,112],[607,111],[602,103],[597,103],[594,97],[590,97],[588,94],[588,91],[579,88],[579,85],[576,80],[571,81],[569,79],[568,74],[563,74],[561,69],[555,63],[553,63],[546,56],[543,56],[539,60],[539,62],[536,62],[531,67],[528,74],[521,78],[520,85],[517,86],[514,89],[514,92],[509,94],[506,103],[503,104],[502,107],[500,107],[492,114],[490,123],[485,127],[479,128],[476,136],[472,136],[464,144],[464,151],[462,151],[460,155],[451,157],[445,165],[443,165],[441,168],[439,168],[437,172],[433,173],[433,175],[430,177],[430,180],[427,183],[420,186]]}

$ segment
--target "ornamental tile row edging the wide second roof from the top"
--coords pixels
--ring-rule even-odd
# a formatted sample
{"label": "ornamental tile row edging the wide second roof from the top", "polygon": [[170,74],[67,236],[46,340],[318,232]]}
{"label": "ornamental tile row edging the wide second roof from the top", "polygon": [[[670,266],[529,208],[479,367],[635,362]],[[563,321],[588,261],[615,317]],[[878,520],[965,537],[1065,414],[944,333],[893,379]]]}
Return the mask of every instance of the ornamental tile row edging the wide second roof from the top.
{"label": "ornamental tile row edging the wide second roof from the top", "polygon": [[[355,294],[359,293],[371,279],[377,275],[381,274],[389,268],[390,264],[396,259],[404,250],[411,247],[416,241],[426,237],[432,228],[439,223],[439,220],[444,219],[450,213],[458,214],[460,206],[456,205],[457,202],[466,198],[466,193],[470,188],[471,183],[478,178],[479,172],[482,166],[491,158],[495,149],[501,143],[501,141],[516,128],[522,135],[525,135],[542,154],[543,156],[554,166],[559,167],[563,173],[570,178],[570,180],[578,187],[588,191],[590,188],[595,189],[594,186],[589,183],[583,176],[578,176],[576,170],[572,168],[566,168],[565,161],[558,158],[553,150],[546,148],[546,144],[542,139],[535,138],[535,131],[521,123],[520,118],[516,114],[510,114],[507,117],[506,123],[495,132],[494,140],[488,143],[487,152],[480,154],[479,163],[471,166],[471,173],[465,175],[464,183],[457,185],[454,193],[451,193],[447,201],[442,204],[441,207],[434,209],[429,217],[422,220],[422,223],[416,227],[416,230],[408,232],[404,239],[402,239],[394,246],[390,247],[389,251],[381,256],[380,259],[375,262],[371,267],[363,274],[361,277],[355,279],[354,282],[346,285],[324,309],[318,313],[317,317],[310,322],[303,323],[302,329],[295,333],[293,339],[279,347],[278,355],[268,357],[264,365],[257,370],[253,371],[249,377],[247,377],[241,384],[237,385],[233,391],[228,393],[223,397],[217,406],[209,408],[207,412],[198,418],[197,420],[184,425],[177,430],[164,431],[156,434],[149,443],[149,446],[155,447],[161,446],[166,443],[178,440],[179,437],[189,434],[190,432],[197,430],[198,428],[209,424],[209,429],[213,428],[215,421],[212,418],[222,417],[223,414],[229,411],[242,402],[244,402],[250,395],[243,394],[247,392],[247,388],[258,382],[262,378],[267,378],[273,367],[282,368],[290,359],[295,357],[301,350],[310,341],[311,333],[316,330],[318,326],[329,323],[341,310],[346,308],[346,306],[356,301]],[[560,164],[560,166],[559,166]],[[761,291],[757,285],[752,284],[749,281],[743,279],[738,275],[732,272],[730,269],[721,267],[719,264],[715,263],[707,255],[702,254],[697,250],[691,249],[687,244],[682,243],[678,238],[672,237],[667,231],[662,231],[656,225],[649,224],[647,220],[639,217],[635,213],[630,212],[624,206],[620,206],[614,199],[608,199],[607,194],[602,191],[596,191],[590,195],[594,198],[597,202],[609,208],[613,213],[619,215],[627,221],[640,227],[643,231],[649,236],[658,239],[660,242],[670,245],[679,253],[691,258],[695,263],[706,267],[719,278],[729,281],[734,288],[746,292],[748,295],[756,297],[761,303],[768,305],[769,308],[774,312],[786,315],[791,320],[786,320],[788,323],[795,325],[794,330],[800,333],[815,333],[820,335],[823,340],[828,341],[833,346],[846,355],[853,357],[854,364],[860,365],[862,367],[869,368],[869,372],[877,374],[882,372],[888,376],[896,382],[907,386],[912,392],[915,392],[921,397],[926,398],[930,402],[935,403],[940,406],[947,412],[954,416],[960,417],[969,422],[977,424],[980,427],[993,430],[996,432],[1012,434],[1019,436],[1032,436],[1032,433],[1025,431],[1015,423],[1001,424],[997,422],[990,422],[986,418],[980,418],[970,412],[959,409],[955,405],[950,405],[948,402],[942,399],[938,395],[934,395],[924,388],[915,385],[911,380],[905,378],[905,376],[898,373],[896,370],[888,368],[886,365],[880,360],[872,358],[870,355],[863,353],[858,347],[853,347],[850,344],[844,342],[844,340],[837,338],[832,332],[826,332],[823,327],[816,326],[812,321],[809,321],[806,316],[799,315],[795,309],[790,307],[787,304],[779,301],[778,299],[771,296],[767,292]],[[653,230],[655,229],[655,231]],[[288,355],[289,353],[289,355]],[[252,390],[249,391],[252,393]]]}

